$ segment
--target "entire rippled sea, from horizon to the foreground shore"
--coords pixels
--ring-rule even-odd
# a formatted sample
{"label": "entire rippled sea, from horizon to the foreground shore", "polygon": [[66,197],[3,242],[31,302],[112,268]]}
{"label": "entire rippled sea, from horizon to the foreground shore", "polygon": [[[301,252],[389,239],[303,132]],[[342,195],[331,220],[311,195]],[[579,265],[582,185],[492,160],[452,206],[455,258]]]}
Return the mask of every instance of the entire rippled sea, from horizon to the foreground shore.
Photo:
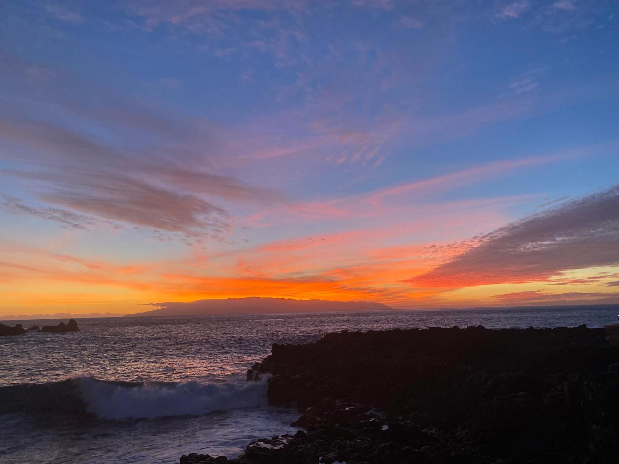
{"label": "entire rippled sea, from horizon to the foreground shore", "polygon": [[[306,343],[342,330],[603,327],[617,321],[618,310],[114,317],[77,319],[80,332],[0,337],[0,462],[173,464],[191,452],[232,458],[252,440],[296,430],[289,425],[296,411],[267,405],[266,383],[245,382],[272,343]],[[76,414],[84,404],[91,414]]]}

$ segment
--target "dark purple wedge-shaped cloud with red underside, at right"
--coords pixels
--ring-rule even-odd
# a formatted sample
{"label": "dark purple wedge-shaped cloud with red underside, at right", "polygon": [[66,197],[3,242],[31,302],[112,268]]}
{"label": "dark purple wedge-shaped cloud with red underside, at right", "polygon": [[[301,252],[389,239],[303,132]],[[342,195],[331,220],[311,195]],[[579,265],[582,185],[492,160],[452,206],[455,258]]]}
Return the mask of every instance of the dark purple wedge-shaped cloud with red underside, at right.
{"label": "dark purple wedge-shaped cloud with red underside, at right", "polygon": [[547,281],[565,270],[619,265],[619,186],[478,239],[478,246],[407,281],[420,287],[461,288]]}

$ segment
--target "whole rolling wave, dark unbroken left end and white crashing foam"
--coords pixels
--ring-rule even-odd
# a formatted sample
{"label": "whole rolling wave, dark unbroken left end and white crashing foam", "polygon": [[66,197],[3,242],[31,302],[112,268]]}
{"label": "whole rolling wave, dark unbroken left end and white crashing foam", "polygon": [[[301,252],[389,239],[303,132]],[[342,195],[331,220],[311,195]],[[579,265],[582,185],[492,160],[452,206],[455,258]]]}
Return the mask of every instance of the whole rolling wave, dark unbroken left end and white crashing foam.
{"label": "whole rolling wave, dark unbroken left end and white crashing foam", "polygon": [[2,413],[94,415],[100,419],[154,419],[204,415],[267,404],[267,381],[111,382],[93,377],[0,388]]}

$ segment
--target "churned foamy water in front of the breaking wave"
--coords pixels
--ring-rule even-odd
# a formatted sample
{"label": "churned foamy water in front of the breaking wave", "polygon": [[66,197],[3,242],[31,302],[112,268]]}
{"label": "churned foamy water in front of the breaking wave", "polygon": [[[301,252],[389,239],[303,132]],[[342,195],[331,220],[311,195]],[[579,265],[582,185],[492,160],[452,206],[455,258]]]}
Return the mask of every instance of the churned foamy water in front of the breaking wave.
{"label": "churned foamy water in front of the breaking wave", "polygon": [[297,416],[269,407],[134,421],[6,415],[0,462],[171,464],[193,452],[232,458],[260,437],[294,433],[288,424]]}

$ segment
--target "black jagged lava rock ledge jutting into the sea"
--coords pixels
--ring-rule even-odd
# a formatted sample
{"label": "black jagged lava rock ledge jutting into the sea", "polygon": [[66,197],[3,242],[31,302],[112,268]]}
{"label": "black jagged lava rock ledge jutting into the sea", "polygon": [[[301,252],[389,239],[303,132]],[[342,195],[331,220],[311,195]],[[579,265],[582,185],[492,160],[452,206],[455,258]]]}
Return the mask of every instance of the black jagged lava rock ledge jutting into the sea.
{"label": "black jagged lava rock ledge jutting into the sea", "polygon": [[[269,403],[295,435],[228,463],[619,462],[619,348],[603,329],[388,330],[273,345]],[[226,462],[191,454],[181,463]]]}

